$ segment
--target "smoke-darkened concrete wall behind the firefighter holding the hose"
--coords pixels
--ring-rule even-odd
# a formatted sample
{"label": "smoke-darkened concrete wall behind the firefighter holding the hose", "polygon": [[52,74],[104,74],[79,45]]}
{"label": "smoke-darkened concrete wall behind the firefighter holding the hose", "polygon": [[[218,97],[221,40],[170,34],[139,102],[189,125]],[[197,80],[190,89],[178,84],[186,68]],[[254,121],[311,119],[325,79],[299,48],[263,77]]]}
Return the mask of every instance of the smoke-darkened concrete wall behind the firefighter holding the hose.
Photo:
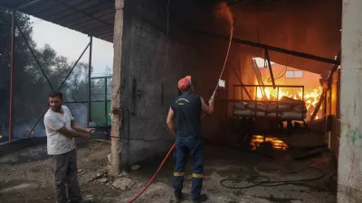
{"label": "smoke-darkened concrete wall behind the firefighter holding the hose", "polygon": [[[192,1],[184,4],[192,5]],[[224,63],[227,43],[198,39],[192,32],[177,27],[177,16],[172,12],[174,8],[180,7],[170,5],[170,14],[173,15],[170,15],[172,23],[169,24],[167,40],[167,1],[125,2],[121,90],[121,107],[125,115],[120,131],[122,166],[126,162],[134,164],[167,152],[175,141],[168,131],[166,119],[169,106],[178,94],[178,79],[191,75],[195,92],[207,102]],[[216,49],[218,46],[220,50]],[[223,51],[222,55],[220,51]],[[132,97],[133,80],[137,85],[135,97]],[[208,116],[203,133],[216,131],[216,122],[217,115]]]}

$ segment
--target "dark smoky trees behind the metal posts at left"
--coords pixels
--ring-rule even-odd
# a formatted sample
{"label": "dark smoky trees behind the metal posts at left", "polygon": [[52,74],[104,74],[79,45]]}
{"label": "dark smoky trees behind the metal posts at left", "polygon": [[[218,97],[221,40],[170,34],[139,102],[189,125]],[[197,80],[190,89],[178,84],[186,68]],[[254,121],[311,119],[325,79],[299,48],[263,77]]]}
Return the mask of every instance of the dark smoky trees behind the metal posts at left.
{"label": "dark smoky trees behind the metal posts at left", "polygon": [[[10,84],[11,12],[0,8],[0,124],[7,123]],[[32,24],[27,15],[16,13],[16,22],[50,79],[58,89],[74,62],[59,56],[48,44],[38,48],[32,37]],[[41,69],[33,59],[20,32],[15,32],[14,123],[32,123],[47,105],[51,90]],[[62,87],[66,101],[86,101],[88,64],[78,63]]]}

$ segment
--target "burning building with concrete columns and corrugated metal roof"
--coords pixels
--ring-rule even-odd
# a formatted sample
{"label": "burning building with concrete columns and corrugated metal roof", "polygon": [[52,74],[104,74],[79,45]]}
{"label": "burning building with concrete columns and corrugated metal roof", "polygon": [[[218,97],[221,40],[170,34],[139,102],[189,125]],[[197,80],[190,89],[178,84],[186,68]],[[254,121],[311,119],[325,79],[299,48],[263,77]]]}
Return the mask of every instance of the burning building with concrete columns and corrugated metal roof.
{"label": "burning building with concrete columns and corrugated metal roof", "polygon": [[[26,6],[20,6],[19,2]],[[339,202],[358,202],[358,197],[360,201],[361,153],[355,139],[361,138],[356,136],[360,131],[361,113],[357,103],[360,92],[356,88],[361,83],[357,78],[361,70],[357,67],[362,55],[358,45],[362,27],[356,19],[361,15],[357,9],[362,3],[345,1],[344,12],[340,0],[226,3],[230,13],[216,12],[223,10],[225,4],[205,0],[116,0],[101,4],[85,0],[33,1],[31,4],[0,0],[1,5],[20,6],[19,10],[26,14],[113,42],[112,149],[114,157],[120,155],[122,167],[163,154],[174,143],[167,131],[166,117],[178,94],[178,78],[192,75],[196,92],[207,99],[225,67],[222,77],[225,88],[218,89],[215,115],[203,123],[205,136],[217,134],[220,123],[235,127],[229,122],[234,115],[235,99],[252,101],[243,105],[262,109],[251,111],[254,117],[257,112],[280,116],[279,110],[268,111],[275,102],[279,109],[282,103],[278,100],[298,103],[289,108],[299,109],[297,113],[303,121],[322,106],[316,118],[326,121],[329,117],[326,134],[353,136],[353,142],[343,136],[340,144],[333,141],[336,146],[343,146],[338,152],[339,166],[343,166],[338,171]],[[74,7],[76,9],[70,9]],[[53,17],[52,14],[64,15]],[[342,24],[346,28],[342,29]],[[267,60],[265,69],[256,69],[254,58]],[[340,74],[342,90],[336,75],[340,60],[344,60]],[[319,81],[325,82],[326,88],[321,88]],[[278,86],[282,89],[276,90]],[[234,87],[239,90],[235,91]],[[345,111],[340,113],[341,125],[338,124],[338,94],[340,109]],[[324,102],[320,97],[325,98]],[[265,104],[261,105],[262,100]],[[336,114],[334,118],[329,116],[333,114]],[[341,133],[336,130],[339,127]],[[280,142],[271,140],[271,143],[283,147]],[[119,159],[112,161],[118,166]],[[348,173],[353,174],[353,180]]]}

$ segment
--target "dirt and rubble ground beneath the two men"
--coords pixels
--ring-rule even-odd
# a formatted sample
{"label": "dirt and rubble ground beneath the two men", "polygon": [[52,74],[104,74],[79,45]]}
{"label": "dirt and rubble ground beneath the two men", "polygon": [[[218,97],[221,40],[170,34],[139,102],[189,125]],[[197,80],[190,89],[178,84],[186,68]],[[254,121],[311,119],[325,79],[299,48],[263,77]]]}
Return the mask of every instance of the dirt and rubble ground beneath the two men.
{"label": "dirt and rubble ground beneath the two men", "polygon": [[[136,195],[157,170],[162,158],[143,162],[137,171],[125,171],[117,178],[107,174],[110,143],[99,141],[77,142],[79,181],[83,196],[92,196],[95,202],[127,202]],[[1,148],[2,146],[0,146]],[[205,172],[203,194],[205,202],[218,203],[334,203],[336,202],[336,180],[330,177],[336,172],[329,161],[329,155],[308,161],[280,161],[266,158],[252,152],[242,152],[230,147],[208,144],[205,148]],[[52,174],[48,165],[46,144],[0,154],[0,203],[7,202],[55,202]],[[308,165],[319,168],[318,171]],[[184,202],[190,202],[191,166],[186,167]],[[325,174],[323,174],[325,173]],[[172,200],[173,159],[168,159],[157,179],[148,190],[134,202],[168,203]],[[260,185],[248,189],[228,189],[221,180],[231,187],[250,186],[253,182],[262,183],[281,180],[313,179],[293,182],[281,186]],[[245,181],[245,180],[249,180]],[[329,184],[330,183],[330,184]],[[329,187],[331,186],[331,187]]]}

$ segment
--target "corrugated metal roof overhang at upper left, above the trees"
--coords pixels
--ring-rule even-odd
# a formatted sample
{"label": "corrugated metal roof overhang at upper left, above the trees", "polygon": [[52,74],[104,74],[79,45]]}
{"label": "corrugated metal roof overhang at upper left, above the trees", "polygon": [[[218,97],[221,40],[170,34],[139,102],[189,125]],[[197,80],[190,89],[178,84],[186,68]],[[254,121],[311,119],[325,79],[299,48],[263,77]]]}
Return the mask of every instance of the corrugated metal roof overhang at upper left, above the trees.
{"label": "corrugated metal roof overhang at upper left, above the trees", "polygon": [[0,0],[0,5],[113,42],[114,0]]}

